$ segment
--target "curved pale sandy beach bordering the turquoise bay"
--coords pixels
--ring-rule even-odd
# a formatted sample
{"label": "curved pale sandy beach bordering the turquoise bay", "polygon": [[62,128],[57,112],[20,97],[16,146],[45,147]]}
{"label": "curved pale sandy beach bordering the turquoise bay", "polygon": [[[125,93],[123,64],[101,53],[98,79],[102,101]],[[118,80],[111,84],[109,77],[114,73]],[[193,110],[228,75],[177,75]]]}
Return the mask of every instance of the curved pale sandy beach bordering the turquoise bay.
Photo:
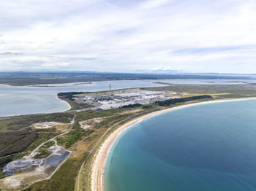
{"label": "curved pale sandy beach bordering the turquoise bay", "polygon": [[223,99],[223,100],[214,100],[214,101],[203,101],[199,103],[185,104],[182,106],[174,106],[172,108],[163,109],[158,112],[146,114],[142,117],[138,117],[135,120],[125,123],[120,128],[118,128],[113,133],[111,133],[110,136],[108,136],[108,138],[105,139],[103,144],[99,147],[99,152],[94,157],[94,162],[91,168],[91,171],[92,171],[91,172],[91,191],[104,191],[104,184],[103,184],[104,171],[105,171],[105,165],[108,159],[110,149],[113,147],[113,144],[116,142],[118,137],[121,136],[121,134],[123,134],[126,130],[131,128],[136,123],[141,122],[142,120],[146,120],[158,114],[174,111],[176,109],[184,109],[190,106],[197,106],[197,105],[211,104],[211,103],[221,103],[221,102],[227,102],[227,101],[244,101],[244,100],[252,100],[252,99],[256,99],[256,98],[232,98],[232,99]]}

